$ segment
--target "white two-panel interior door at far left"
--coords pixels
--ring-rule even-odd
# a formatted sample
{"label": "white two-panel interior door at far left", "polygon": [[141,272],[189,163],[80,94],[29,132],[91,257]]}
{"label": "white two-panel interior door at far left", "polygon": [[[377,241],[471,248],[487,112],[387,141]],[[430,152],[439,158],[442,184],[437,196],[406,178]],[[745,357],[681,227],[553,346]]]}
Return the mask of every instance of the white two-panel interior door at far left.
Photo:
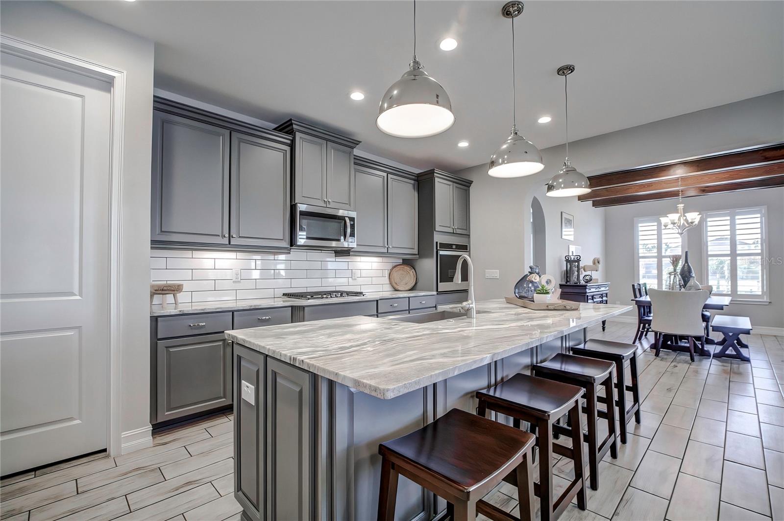
{"label": "white two-panel interior door at far left", "polygon": [[111,85],[0,59],[5,475],[107,447]]}

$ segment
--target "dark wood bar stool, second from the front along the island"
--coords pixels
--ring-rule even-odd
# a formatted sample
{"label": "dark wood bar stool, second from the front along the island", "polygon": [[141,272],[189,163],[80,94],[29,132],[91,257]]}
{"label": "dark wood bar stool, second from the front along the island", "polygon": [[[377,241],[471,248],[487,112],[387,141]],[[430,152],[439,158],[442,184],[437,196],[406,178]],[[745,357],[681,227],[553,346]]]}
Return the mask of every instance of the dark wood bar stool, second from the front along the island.
{"label": "dark wood bar stool, second from the front along the island", "polygon": [[[520,422],[529,422],[539,433],[536,439],[539,447],[539,483],[534,483],[534,494],[541,500],[542,521],[558,519],[568,507],[572,498],[577,497],[577,506],[586,509],[585,472],[583,464],[583,440],[580,433],[580,397],[581,387],[536,378],[535,376],[517,374],[503,383],[489,389],[477,391],[479,399],[478,415],[484,416],[487,411],[499,412],[511,416],[514,426],[520,428]],[[574,429],[572,448],[553,443],[553,429],[557,419],[569,416]],[[553,453],[575,462],[575,479],[569,483],[560,498],[553,499]],[[507,483],[517,485],[514,474],[506,476]]]}

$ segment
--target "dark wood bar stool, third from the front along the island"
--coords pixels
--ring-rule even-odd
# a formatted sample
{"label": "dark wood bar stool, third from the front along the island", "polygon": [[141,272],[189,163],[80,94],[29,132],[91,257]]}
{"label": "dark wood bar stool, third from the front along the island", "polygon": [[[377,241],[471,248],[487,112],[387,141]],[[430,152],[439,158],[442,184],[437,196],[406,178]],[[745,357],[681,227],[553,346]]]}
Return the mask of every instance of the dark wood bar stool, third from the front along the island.
{"label": "dark wood bar stool, third from the front along the island", "polygon": [[[615,363],[611,361],[597,360],[595,358],[579,357],[574,354],[558,353],[550,360],[541,364],[534,365],[534,375],[557,382],[570,383],[575,386],[582,386],[586,392],[583,397],[586,399],[586,407],[583,411],[588,415],[588,432],[584,439],[588,443],[588,464],[590,466],[590,487],[599,490],[599,462],[607,451],[610,451],[612,458],[618,458],[618,441],[615,436],[615,407],[609,405],[606,411],[601,411],[597,407],[597,390],[599,386],[604,386],[606,396],[613,396],[612,373],[615,370]],[[597,440],[599,431],[598,419],[607,419],[608,435],[599,443]],[[558,434],[572,434],[574,427],[554,426],[554,432]],[[582,429],[580,429],[582,433]]]}

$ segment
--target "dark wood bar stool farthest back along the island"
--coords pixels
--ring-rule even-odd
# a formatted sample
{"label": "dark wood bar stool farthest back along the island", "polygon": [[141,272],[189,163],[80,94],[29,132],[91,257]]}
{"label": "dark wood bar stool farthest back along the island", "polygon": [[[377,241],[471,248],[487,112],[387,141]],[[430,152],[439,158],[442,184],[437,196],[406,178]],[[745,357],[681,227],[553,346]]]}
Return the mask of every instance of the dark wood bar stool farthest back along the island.
{"label": "dark wood bar stool farthest back along the island", "polygon": [[[634,421],[640,423],[640,386],[637,383],[637,346],[633,343],[612,342],[610,340],[590,339],[582,346],[572,347],[572,354],[581,357],[598,358],[615,362],[615,388],[618,390],[618,408],[620,423],[621,443],[626,444],[626,421],[634,414]],[[629,361],[631,372],[631,385],[626,385],[626,371],[624,364]],[[626,407],[626,391],[632,393],[632,403]],[[598,397],[598,401],[607,404],[605,397]]]}

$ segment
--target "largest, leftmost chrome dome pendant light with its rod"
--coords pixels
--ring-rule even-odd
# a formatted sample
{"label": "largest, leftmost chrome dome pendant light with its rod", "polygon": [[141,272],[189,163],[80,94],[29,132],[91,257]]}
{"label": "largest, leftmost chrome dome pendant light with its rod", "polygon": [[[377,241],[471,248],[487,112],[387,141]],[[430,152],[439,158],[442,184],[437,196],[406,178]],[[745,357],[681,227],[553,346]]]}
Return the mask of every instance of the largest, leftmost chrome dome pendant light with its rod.
{"label": "largest, leftmost chrome dome pendant light with its rod", "polygon": [[414,0],[414,57],[379,103],[376,127],[397,138],[426,138],[455,124],[452,102],[441,84],[416,59],[416,0]]}

